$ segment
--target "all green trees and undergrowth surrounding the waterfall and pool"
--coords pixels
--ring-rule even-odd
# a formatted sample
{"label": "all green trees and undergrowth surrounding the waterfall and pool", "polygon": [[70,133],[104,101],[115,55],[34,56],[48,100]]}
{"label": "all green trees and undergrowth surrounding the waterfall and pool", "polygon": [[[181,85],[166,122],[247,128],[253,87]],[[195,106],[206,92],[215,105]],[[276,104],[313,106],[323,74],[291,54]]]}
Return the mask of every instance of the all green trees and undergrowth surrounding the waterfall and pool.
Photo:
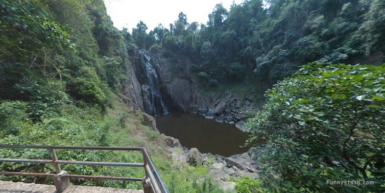
{"label": "all green trees and undergrowth surrounding the waterfall and pool", "polygon": [[[207,23],[114,27],[103,0],[0,0],[0,144],[146,147],[170,193],[385,192],[385,1],[245,0],[217,4]],[[191,23],[190,23],[191,22]],[[244,126],[264,136],[259,177],[224,191],[205,166],[175,165],[150,116],[121,89],[133,54],[188,58],[202,88],[248,82],[265,94]],[[183,64],[175,67],[184,68]],[[59,159],[143,162],[139,153],[58,151]],[[0,158],[50,159],[0,149]],[[70,174],[143,177],[135,168],[63,165]],[[54,173],[1,162],[0,171]],[[53,184],[47,177],[5,176]],[[333,186],[329,181],[370,181]],[[142,189],[140,182],[71,179]]]}

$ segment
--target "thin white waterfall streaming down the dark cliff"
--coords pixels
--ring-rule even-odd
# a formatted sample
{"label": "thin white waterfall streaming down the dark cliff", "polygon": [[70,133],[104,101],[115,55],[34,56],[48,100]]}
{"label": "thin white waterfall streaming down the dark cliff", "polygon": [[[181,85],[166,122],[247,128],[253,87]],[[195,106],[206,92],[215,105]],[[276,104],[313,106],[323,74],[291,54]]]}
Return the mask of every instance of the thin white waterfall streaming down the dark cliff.
{"label": "thin white waterfall streaming down the dark cliff", "polygon": [[142,63],[145,65],[147,84],[150,90],[150,101],[154,112],[154,116],[168,114],[168,110],[165,101],[159,90],[159,77],[156,73],[154,64],[150,62],[150,57],[145,55],[142,51],[139,51]]}

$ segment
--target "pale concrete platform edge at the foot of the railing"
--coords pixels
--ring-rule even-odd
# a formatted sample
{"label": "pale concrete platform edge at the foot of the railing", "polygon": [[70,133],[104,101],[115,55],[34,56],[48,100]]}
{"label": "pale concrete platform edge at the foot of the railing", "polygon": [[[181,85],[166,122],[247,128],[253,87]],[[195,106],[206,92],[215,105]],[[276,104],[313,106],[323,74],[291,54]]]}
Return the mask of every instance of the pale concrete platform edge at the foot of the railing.
{"label": "pale concrete platform edge at the foot of the railing", "polygon": [[[56,189],[53,185],[0,181],[0,193],[56,193]],[[70,186],[63,193],[143,193],[143,190]]]}

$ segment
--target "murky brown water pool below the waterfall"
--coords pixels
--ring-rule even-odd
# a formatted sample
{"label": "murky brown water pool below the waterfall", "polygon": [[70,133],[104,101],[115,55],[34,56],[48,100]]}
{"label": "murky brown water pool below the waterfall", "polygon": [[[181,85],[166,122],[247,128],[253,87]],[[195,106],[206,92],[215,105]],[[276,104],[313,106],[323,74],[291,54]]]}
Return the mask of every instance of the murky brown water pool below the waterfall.
{"label": "murky brown water pool below the waterfall", "polygon": [[234,125],[217,123],[214,119],[191,113],[171,113],[155,117],[160,133],[179,139],[182,146],[197,148],[201,153],[230,156],[247,152],[241,148],[249,133]]}

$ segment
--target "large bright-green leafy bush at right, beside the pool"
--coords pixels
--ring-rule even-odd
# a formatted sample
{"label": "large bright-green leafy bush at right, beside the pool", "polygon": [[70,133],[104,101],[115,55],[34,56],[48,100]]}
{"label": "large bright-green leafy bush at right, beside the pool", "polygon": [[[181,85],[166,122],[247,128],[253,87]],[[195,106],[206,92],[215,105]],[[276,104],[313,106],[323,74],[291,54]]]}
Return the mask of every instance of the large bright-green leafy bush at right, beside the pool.
{"label": "large bright-green leafy bush at right, beside the pool", "polygon": [[268,90],[264,110],[246,127],[251,141],[266,136],[260,169],[269,190],[384,190],[384,75],[384,66],[310,63]]}

